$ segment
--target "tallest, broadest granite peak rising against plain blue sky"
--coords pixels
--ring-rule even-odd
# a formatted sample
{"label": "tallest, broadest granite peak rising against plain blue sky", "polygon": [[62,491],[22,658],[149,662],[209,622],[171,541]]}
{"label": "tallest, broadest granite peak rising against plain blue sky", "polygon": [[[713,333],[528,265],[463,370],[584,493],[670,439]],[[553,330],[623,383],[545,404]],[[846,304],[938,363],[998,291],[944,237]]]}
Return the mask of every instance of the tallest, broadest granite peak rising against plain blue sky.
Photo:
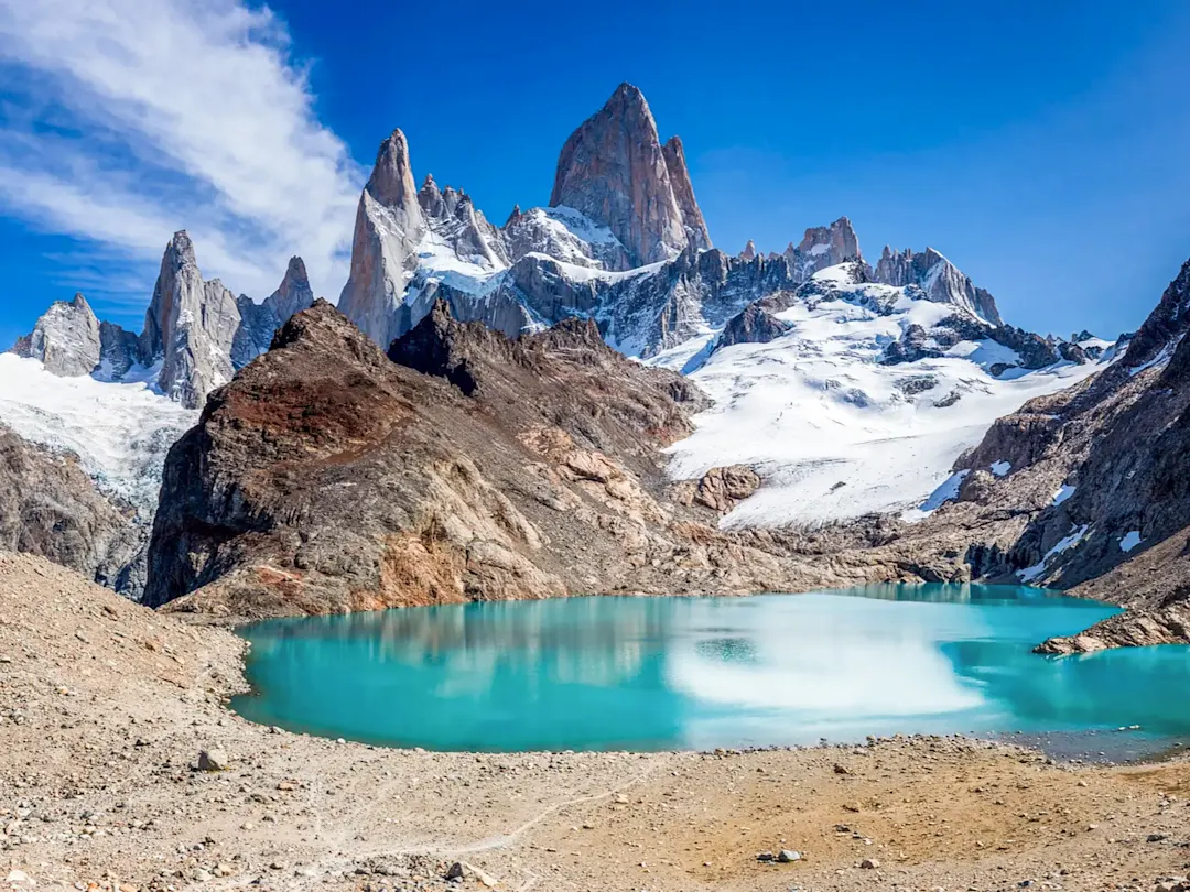
{"label": "tallest, broadest granite peak rising against plain blue sky", "polygon": [[657,124],[639,89],[621,83],[570,134],[558,157],[550,205],[574,208],[609,227],[637,266],[670,259],[690,244]]}

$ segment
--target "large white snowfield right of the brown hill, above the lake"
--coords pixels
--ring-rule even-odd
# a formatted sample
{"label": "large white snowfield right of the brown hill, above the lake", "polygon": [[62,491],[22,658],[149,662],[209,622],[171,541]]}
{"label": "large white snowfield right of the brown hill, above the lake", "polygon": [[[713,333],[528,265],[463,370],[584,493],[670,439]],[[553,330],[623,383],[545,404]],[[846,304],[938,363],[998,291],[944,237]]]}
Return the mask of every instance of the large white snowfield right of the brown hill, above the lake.
{"label": "large white snowfield right of the brown hill, above the lake", "polygon": [[[954,496],[954,460],[997,417],[1103,368],[1059,363],[996,378],[995,363],[1019,357],[983,340],[960,341],[938,359],[882,365],[885,346],[909,325],[928,329],[954,308],[890,285],[847,285],[838,268],[815,279],[838,285],[837,296],[778,313],[791,328],[776,340],[712,350],[708,334],[652,360],[689,372],[714,400],[694,434],[670,447],[670,475],[743,464],[763,478],[725,528],[925,516]],[[888,315],[871,308],[888,301]],[[989,470],[1008,473],[1006,465]],[[931,498],[944,483],[950,488]]]}

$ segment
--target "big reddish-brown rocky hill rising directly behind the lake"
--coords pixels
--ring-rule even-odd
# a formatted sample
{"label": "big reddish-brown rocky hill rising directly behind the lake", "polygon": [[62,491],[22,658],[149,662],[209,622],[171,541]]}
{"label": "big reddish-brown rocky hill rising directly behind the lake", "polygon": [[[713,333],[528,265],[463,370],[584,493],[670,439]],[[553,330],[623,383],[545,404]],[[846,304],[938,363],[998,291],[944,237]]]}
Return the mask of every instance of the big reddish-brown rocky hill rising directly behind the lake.
{"label": "big reddish-brown rocky hill rising directly behind the lake", "polygon": [[704,397],[589,321],[512,341],[439,303],[390,356],[319,302],[212,395],[165,464],[148,603],[267,616],[904,577],[715,529],[754,475],[668,482],[662,450]]}

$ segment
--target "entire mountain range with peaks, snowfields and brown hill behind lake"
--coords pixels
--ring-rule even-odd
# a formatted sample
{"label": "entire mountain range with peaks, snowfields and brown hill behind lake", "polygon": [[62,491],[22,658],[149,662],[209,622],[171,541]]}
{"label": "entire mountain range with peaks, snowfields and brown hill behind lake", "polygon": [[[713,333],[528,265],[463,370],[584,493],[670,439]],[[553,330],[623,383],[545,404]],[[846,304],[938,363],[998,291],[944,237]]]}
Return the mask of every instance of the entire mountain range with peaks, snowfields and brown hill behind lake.
{"label": "entire mountain range with peaks, snowfields and brown hill behind lake", "polygon": [[[1190,522],[1161,421],[1185,276],[1135,337],[1063,340],[934,249],[870,264],[847,218],[727,253],[630,84],[501,226],[418,187],[394,131],[337,308],[296,257],[236,297],[178,232],[140,333],[76,295],[0,356],[0,545],[253,616],[878,579],[1102,597]],[[1177,635],[1182,596],[1136,590]]]}

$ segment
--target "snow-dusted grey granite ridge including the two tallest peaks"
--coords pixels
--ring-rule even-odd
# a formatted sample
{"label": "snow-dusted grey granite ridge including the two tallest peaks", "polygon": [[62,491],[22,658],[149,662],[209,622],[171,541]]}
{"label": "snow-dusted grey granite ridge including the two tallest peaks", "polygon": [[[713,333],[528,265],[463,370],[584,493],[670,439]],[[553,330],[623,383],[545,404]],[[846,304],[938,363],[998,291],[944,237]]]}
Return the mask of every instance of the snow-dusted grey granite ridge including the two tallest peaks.
{"label": "snow-dusted grey granite ridge including the two tallest peaks", "polygon": [[[912,284],[1002,327],[991,295],[937,251],[885,255],[871,281]],[[847,260],[862,260],[847,218],[808,228],[782,253],[714,249],[681,139],[662,144],[644,95],[626,83],[566,140],[550,207],[518,206],[499,228],[433,177],[415,190],[408,142],[395,131],[361,195],[339,307],[382,347],[445,300],[457,319],[513,338],[594,319],[608,344],[647,358]]]}

